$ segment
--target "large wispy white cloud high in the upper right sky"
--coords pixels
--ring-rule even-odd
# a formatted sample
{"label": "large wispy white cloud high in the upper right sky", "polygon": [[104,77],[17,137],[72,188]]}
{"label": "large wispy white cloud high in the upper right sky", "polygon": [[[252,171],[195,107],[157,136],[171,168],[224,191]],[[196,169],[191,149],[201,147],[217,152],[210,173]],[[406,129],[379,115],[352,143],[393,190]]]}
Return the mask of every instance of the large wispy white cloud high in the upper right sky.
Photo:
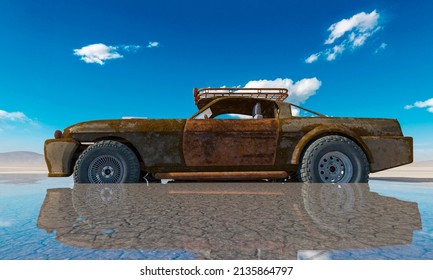
{"label": "large wispy white cloud high in the upper right sky", "polygon": [[[353,15],[351,18],[342,19],[332,24],[328,28],[330,34],[324,44],[334,45],[310,55],[305,62],[313,63],[322,55],[325,55],[326,60],[332,61],[345,50],[353,50],[363,46],[369,37],[381,29],[379,26],[379,18],[379,13],[374,10],[369,14],[361,12]],[[383,48],[385,47],[386,44]]]}

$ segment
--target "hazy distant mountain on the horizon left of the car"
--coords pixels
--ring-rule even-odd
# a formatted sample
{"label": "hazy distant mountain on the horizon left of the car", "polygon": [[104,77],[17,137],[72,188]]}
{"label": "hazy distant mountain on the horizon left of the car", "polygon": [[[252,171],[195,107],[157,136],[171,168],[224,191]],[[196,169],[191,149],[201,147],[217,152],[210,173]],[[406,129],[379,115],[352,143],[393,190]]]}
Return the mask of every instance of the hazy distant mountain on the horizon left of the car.
{"label": "hazy distant mountain on the horizon left of the car", "polygon": [[44,155],[34,152],[0,153],[0,167],[45,167]]}

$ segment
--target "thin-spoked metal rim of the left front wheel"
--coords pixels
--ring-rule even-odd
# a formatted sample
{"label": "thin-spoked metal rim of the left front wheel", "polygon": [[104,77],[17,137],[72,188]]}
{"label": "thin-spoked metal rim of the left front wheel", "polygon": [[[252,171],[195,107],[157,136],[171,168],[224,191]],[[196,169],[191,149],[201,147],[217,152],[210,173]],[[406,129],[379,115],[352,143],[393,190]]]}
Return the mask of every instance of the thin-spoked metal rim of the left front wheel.
{"label": "thin-spoked metal rim of the left front wheel", "polygon": [[119,183],[123,173],[124,168],[119,159],[102,155],[90,163],[88,176],[90,183]]}

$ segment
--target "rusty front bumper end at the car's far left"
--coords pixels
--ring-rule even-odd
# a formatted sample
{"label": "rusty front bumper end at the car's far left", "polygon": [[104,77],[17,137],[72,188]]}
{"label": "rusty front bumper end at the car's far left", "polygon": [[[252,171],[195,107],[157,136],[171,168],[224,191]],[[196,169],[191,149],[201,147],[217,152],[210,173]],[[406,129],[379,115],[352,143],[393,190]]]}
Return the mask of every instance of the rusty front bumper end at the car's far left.
{"label": "rusty front bumper end at the car's far left", "polygon": [[45,163],[49,177],[67,177],[73,172],[73,156],[80,143],[74,139],[49,139],[45,141]]}

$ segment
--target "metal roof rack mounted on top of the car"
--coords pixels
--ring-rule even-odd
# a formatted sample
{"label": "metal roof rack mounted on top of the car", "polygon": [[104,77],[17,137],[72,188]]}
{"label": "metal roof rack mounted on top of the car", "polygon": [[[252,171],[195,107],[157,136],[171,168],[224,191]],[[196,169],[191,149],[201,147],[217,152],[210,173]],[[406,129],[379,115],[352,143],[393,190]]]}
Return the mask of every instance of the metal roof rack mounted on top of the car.
{"label": "metal roof rack mounted on top of the car", "polygon": [[265,98],[274,101],[283,101],[289,96],[286,88],[194,88],[193,92],[195,104],[202,99],[226,96]]}

